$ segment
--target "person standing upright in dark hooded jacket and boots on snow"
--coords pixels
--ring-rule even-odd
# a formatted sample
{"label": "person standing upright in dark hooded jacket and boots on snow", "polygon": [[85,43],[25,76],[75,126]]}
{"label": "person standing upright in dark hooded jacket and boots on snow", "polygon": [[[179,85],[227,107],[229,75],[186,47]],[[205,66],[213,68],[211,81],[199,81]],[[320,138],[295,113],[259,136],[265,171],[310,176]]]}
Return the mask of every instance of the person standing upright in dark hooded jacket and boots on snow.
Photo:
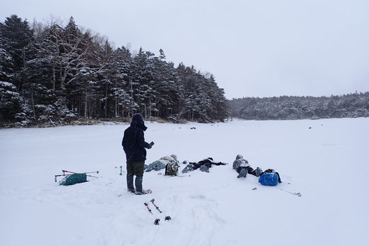
{"label": "person standing upright in dark hooded jacket and boots on snow", "polygon": [[[136,113],[132,117],[131,125],[125,129],[122,146],[127,158],[127,188],[129,192],[142,195],[143,165],[146,161],[146,149],[151,149],[154,142],[145,142],[144,131],[148,129],[142,115]],[[145,149],[146,148],[146,149]],[[133,178],[136,175],[136,179]],[[134,190],[136,186],[136,190]]]}

